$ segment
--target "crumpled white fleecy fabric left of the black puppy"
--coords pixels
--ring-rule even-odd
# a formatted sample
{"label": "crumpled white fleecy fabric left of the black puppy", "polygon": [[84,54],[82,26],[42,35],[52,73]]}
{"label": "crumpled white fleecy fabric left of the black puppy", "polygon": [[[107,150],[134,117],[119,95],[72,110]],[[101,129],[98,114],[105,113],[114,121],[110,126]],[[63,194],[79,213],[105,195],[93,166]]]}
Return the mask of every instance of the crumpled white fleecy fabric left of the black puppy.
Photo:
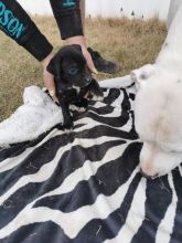
{"label": "crumpled white fleecy fabric left of the black puppy", "polygon": [[61,108],[38,86],[24,89],[23,103],[0,124],[0,147],[33,140],[63,122]]}

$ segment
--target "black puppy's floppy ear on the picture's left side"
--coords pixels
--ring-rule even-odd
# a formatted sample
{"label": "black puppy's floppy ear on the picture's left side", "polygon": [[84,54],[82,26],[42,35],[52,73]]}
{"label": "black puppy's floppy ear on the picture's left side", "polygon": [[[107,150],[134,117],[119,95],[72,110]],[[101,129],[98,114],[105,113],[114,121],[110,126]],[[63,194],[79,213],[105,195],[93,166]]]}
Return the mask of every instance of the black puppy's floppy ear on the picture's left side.
{"label": "black puppy's floppy ear on the picture's left side", "polygon": [[61,78],[61,56],[55,55],[49,63],[46,70],[52,73],[56,78]]}

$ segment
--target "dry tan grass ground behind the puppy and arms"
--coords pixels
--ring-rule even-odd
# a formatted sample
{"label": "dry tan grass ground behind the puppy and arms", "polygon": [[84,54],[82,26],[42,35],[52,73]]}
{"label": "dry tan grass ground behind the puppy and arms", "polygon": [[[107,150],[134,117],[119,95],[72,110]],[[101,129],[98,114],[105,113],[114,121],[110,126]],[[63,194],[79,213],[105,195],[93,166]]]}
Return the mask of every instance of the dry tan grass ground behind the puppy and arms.
{"label": "dry tan grass ground behind the puppy and arms", "polygon": [[[53,18],[34,17],[41,31],[53,44],[63,45]],[[149,21],[124,19],[88,19],[86,36],[89,46],[122,66],[116,75],[98,75],[97,80],[124,76],[131,70],[152,63],[164,41],[165,24],[153,18]],[[29,85],[43,86],[41,64],[15,42],[0,32],[0,122],[22,104],[22,93]]]}

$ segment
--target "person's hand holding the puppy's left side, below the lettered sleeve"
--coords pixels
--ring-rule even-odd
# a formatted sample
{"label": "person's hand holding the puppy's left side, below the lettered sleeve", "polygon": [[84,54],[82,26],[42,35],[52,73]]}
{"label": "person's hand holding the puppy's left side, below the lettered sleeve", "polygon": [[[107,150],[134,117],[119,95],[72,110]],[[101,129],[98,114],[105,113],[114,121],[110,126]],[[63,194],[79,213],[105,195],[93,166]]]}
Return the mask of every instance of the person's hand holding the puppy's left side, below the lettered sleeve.
{"label": "person's hand holding the puppy's left side, below the lettered sleeve", "polygon": [[55,96],[55,84],[54,84],[54,75],[51,74],[46,67],[50,63],[50,61],[53,57],[53,53],[50,53],[43,61],[42,61],[42,66],[43,66],[43,81],[44,85],[47,88],[51,97],[53,98],[54,102],[57,102],[57,98]]}

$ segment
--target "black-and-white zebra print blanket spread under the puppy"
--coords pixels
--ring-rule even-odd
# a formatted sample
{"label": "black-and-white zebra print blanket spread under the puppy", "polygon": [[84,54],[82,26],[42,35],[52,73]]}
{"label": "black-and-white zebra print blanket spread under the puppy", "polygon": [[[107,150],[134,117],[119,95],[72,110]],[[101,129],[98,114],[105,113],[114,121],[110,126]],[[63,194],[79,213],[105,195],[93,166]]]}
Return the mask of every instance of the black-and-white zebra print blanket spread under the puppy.
{"label": "black-and-white zebra print blanket spread under the puppy", "polygon": [[181,243],[182,169],[141,177],[132,89],[0,149],[0,243]]}

